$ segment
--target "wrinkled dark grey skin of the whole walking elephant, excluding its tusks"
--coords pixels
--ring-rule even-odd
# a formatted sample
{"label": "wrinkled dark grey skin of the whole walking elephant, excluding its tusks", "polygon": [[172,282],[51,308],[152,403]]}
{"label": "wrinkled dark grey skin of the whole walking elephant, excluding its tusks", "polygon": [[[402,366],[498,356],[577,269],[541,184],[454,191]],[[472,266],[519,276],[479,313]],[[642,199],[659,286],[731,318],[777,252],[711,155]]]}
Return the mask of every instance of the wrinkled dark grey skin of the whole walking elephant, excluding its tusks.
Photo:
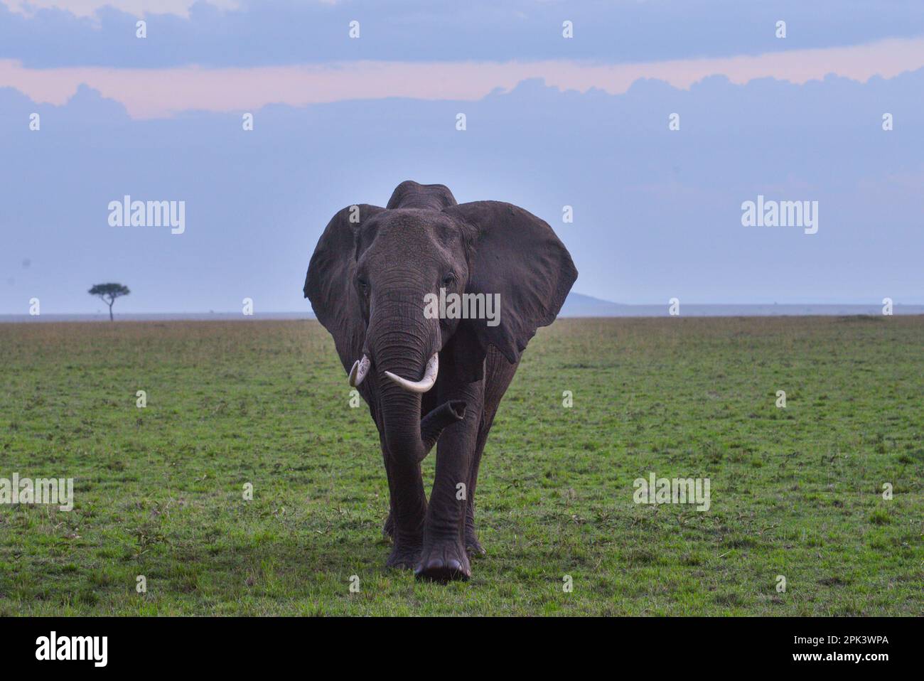
{"label": "wrinkled dark grey skin of the whole walking elephant, excluding its tusks", "polygon": [[[379,429],[388,476],[387,565],[439,581],[470,576],[468,554],[484,553],[475,487],[494,414],[529,338],[554,321],[576,278],[565,246],[538,217],[500,201],[458,205],[443,185],[402,182],[385,208],[347,207],[327,225],[305,297],[346,371],[363,354],[371,359],[359,394]],[[426,319],[425,294],[441,287],[500,294],[500,323]],[[439,374],[427,393],[384,375],[419,381],[434,352]],[[428,505],[420,461],[433,444]]]}

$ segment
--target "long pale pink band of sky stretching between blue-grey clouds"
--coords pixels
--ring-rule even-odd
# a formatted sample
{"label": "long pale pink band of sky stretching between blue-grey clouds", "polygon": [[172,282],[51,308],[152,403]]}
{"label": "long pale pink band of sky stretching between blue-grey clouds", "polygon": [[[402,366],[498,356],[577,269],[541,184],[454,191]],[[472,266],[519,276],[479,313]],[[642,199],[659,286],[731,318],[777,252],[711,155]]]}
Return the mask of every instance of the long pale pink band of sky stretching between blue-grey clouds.
{"label": "long pale pink band of sky stretching between blue-grey clouds", "polygon": [[924,67],[924,38],[757,56],[681,59],[602,65],[577,61],[540,62],[372,62],[322,66],[160,69],[66,67],[24,68],[0,60],[0,86],[22,91],[36,102],[62,104],[80,83],[123,103],[136,118],[179,111],[253,111],[268,103],[305,105],[349,99],[411,97],[477,100],[496,88],[541,78],[563,90],[599,88],[625,92],[638,79],[662,79],[689,88],[711,75],[736,83],[772,77],[804,83],[829,73],[866,81],[893,78]]}

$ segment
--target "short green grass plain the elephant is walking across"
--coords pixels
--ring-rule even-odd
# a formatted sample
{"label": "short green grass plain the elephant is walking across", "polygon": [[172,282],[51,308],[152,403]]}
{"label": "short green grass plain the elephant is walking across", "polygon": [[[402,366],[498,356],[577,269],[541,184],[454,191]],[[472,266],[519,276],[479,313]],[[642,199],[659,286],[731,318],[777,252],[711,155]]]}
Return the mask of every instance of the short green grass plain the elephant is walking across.
{"label": "short green grass plain the elephant is walking across", "polygon": [[[481,464],[488,553],[447,586],[383,567],[378,437],[317,322],[0,324],[0,351],[0,478],[75,479],[69,513],[0,505],[0,615],[924,614],[921,317],[541,329]],[[636,505],[650,471],[710,510]]]}

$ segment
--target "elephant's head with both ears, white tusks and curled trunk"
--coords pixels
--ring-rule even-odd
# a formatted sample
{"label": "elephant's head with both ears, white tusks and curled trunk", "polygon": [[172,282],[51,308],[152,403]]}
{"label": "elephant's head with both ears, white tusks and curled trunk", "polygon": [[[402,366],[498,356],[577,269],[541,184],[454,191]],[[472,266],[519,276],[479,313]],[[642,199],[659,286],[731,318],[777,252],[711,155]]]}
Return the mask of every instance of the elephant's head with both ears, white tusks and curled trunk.
{"label": "elephant's head with both ears, white tusks and curled trunk", "polygon": [[[479,380],[490,346],[516,363],[576,278],[567,250],[536,216],[498,201],[458,205],[443,185],[407,181],[385,208],[359,204],[334,215],[304,292],[389,451],[422,458],[465,406],[439,405],[421,423],[421,395],[444,381]],[[432,318],[427,297],[441,288],[497,294],[498,318]]]}

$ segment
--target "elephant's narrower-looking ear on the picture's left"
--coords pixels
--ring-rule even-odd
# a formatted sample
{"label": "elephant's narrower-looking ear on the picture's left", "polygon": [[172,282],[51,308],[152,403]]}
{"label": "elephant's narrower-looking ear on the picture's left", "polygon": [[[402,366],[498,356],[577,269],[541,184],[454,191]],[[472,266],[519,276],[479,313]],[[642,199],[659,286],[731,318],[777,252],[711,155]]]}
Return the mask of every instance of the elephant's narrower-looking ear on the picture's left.
{"label": "elephant's narrower-looking ear on the picture's left", "polygon": [[365,334],[356,277],[359,229],[384,208],[368,203],[347,206],[331,218],[314,249],[305,276],[305,298],[315,316],[334,336],[344,369],[349,370],[362,352]]}

